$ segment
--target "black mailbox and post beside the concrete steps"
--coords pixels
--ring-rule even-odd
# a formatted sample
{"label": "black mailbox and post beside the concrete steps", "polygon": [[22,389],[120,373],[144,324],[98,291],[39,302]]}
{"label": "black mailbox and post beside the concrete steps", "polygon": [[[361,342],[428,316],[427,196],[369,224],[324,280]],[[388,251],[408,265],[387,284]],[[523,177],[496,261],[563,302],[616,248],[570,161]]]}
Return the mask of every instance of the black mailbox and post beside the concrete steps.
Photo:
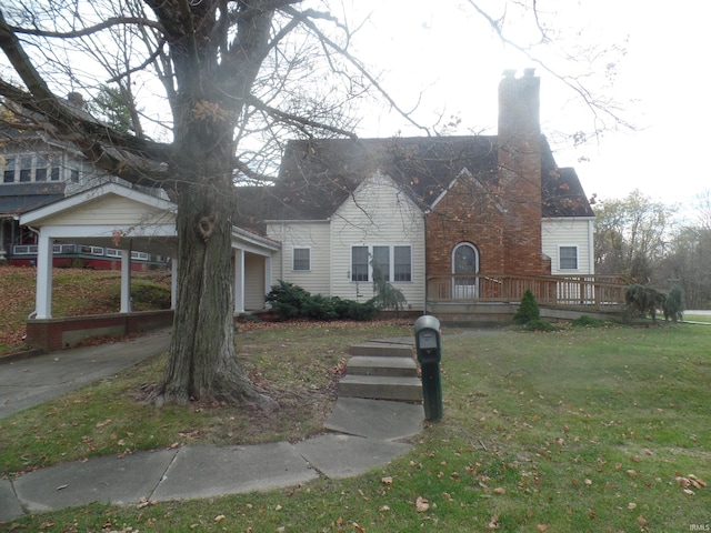
{"label": "black mailbox and post beside the concrete steps", "polygon": [[440,336],[440,321],[434,316],[428,314],[414,321],[414,344],[422,369],[422,399],[424,400],[424,418],[427,420],[442,418],[442,381],[440,378],[442,342]]}

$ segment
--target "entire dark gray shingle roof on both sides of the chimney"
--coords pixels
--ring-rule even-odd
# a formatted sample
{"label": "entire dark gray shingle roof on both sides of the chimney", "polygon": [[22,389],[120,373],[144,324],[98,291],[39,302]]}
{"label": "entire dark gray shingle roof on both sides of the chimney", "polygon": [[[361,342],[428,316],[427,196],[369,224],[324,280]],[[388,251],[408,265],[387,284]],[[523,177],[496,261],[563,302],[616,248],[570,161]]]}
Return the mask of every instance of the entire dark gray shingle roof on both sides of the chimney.
{"label": "entire dark gray shingle roof on both sides of the chimney", "polygon": [[[544,138],[541,148],[543,217],[593,217],[575,171],[555,164]],[[274,187],[238,192],[238,218],[326,220],[377,171],[424,210],[464,169],[493,183],[497,154],[495,135],[290,141]]]}

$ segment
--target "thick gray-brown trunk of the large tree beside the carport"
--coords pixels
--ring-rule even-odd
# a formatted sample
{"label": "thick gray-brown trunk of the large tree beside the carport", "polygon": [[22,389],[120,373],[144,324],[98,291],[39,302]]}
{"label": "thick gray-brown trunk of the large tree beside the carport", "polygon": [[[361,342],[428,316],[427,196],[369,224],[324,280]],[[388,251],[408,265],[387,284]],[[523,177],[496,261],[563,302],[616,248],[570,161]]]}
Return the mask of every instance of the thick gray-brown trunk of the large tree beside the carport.
{"label": "thick gray-brown trunk of the large tree beside the carport", "polygon": [[150,4],[167,29],[177,87],[169,171],[178,203],[178,301],[157,400],[274,408],[236,359],[230,266],[234,129],[269,50],[276,4],[239,2],[231,42],[229,32],[214,31],[216,24],[227,31],[216,19],[217,13],[228,17],[227,4],[192,2],[189,12],[170,2]]}

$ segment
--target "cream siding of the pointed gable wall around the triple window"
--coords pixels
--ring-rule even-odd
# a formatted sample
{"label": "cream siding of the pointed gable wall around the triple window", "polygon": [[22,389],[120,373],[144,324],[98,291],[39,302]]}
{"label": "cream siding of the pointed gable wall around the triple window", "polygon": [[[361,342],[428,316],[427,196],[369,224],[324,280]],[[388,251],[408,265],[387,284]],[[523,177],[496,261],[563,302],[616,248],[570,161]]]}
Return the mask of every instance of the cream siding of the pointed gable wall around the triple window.
{"label": "cream siding of the pointed gable wall around the triple window", "polygon": [[411,309],[424,309],[423,213],[388,177],[374,175],[334,213],[331,221],[331,293],[349,300],[373,296],[372,282],[351,281],[351,247],[411,247],[412,281],[391,281]]}

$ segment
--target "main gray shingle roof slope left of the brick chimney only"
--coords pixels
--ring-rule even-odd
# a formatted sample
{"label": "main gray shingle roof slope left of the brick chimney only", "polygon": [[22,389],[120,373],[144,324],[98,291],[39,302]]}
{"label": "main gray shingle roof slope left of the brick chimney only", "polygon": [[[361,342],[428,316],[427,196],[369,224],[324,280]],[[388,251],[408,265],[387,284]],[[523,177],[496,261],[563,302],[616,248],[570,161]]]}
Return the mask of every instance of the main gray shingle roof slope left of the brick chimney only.
{"label": "main gray shingle roof slope left of the brick chimney only", "polygon": [[424,210],[462,169],[488,181],[495,162],[490,137],[290,141],[276,185],[283,204],[272,209],[290,219],[327,219],[364,177],[380,172]]}

